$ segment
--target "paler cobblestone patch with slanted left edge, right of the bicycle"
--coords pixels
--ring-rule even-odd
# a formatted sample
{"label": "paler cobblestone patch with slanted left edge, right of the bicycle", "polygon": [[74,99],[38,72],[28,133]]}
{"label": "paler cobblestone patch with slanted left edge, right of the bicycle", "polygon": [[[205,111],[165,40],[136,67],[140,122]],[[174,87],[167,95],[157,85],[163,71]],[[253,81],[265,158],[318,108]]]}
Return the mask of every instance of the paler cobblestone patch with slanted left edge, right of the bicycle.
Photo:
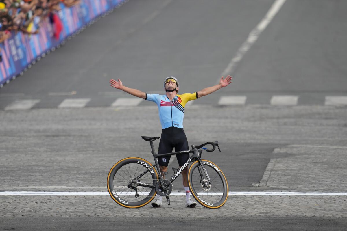
{"label": "paler cobblestone patch with slanted left edge, right of the bicycle", "polygon": [[259,184],[268,188],[347,191],[346,146],[276,148]]}

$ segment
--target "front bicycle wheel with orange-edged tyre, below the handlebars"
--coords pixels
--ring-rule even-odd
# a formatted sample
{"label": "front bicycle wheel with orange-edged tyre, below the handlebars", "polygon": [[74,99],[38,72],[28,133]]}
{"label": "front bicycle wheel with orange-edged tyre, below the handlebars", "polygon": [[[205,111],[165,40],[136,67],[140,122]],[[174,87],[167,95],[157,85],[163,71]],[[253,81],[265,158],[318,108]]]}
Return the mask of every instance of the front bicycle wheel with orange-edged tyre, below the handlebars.
{"label": "front bicycle wheel with orange-edged tyre, below the handlebars", "polygon": [[[197,160],[188,170],[188,185],[198,203],[206,208],[219,208],[228,198],[229,188],[222,170],[209,160]],[[206,172],[204,171],[206,169]],[[208,178],[210,178],[210,182]]]}

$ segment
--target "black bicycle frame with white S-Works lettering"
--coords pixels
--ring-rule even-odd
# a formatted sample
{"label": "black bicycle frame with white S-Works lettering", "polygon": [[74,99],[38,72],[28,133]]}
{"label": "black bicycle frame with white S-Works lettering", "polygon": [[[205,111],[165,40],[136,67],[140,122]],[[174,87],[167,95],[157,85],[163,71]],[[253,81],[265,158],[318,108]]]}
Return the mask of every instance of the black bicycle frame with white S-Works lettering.
{"label": "black bicycle frame with white S-Works lettering", "polygon": [[[200,152],[197,148],[193,148],[193,149],[190,149],[190,150],[186,150],[186,151],[179,151],[179,152],[170,152],[170,153],[164,153],[164,154],[155,154],[155,150],[154,150],[154,145],[153,145],[153,141],[150,141],[150,144],[151,144],[151,153],[153,154],[153,157],[154,157],[154,162],[155,162],[155,165],[152,165],[150,168],[148,168],[147,170],[145,170],[144,172],[142,172],[141,174],[139,174],[138,176],[134,177],[133,178],[133,181],[138,179],[138,178],[141,178],[142,176],[144,176],[148,171],[151,171],[151,169],[153,167],[156,167],[156,170],[158,172],[161,172],[160,171],[160,168],[159,168],[159,163],[158,163],[158,160],[156,158],[158,157],[164,157],[164,156],[174,156],[174,155],[177,155],[177,154],[181,154],[181,153],[193,153],[192,156],[190,156],[188,158],[188,160],[184,163],[183,166],[181,166],[177,172],[171,177],[170,179],[170,182],[174,182],[175,179],[182,173],[182,171],[189,165],[189,163],[191,163],[192,161],[194,161],[195,159],[197,159],[201,166],[203,166],[203,163],[202,163],[202,160],[200,158]],[[141,163],[142,164],[142,163]],[[145,165],[146,167],[148,167],[145,163],[143,163],[143,165]],[[203,170],[209,180],[209,183],[211,184],[211,179],[206,171],[206,169],[203,167]],[[200,173],[200,175],[202,176],[202,172],[201,172],[201,169],[198,168],[198,171]],[[159,174],[159,181],[160,183],[163,185],[163,182],[162,182],[162,179],[163,179],[163,176],[162,174]],[[137,181],[137,180],[136,180]],[[141,182],[136,182],[137,184],[143,186],[143,187],[148,187],[148,188],[155,188],[155,185],[148,185],[148,184],[143,184]]]}

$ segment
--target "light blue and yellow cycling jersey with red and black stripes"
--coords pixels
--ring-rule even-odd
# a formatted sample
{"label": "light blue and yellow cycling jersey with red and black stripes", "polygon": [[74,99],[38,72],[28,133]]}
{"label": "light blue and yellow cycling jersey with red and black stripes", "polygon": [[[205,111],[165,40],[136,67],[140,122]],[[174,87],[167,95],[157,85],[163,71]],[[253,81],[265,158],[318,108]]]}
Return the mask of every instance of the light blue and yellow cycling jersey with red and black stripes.
{"label": "light blue and yellow cycling jersey with red and black stripes", "polygon": [[166,95],[147,94],[146,100],[158,105],[161,128],[183,128],[184,107],[188,101],[197,99],[197,92],[176,95],[172,101]]}

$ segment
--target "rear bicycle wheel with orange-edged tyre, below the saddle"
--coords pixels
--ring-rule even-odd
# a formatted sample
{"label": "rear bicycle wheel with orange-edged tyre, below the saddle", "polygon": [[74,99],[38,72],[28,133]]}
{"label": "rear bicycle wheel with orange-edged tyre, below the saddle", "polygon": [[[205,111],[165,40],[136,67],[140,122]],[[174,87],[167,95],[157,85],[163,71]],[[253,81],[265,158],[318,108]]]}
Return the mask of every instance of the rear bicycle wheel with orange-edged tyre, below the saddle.
{"label": "rear bicycle wheel with orange-edged tyre, below the saddle", "polygon": [[[139,208],[150,203],[156,195],[155,188],[144,185],[155,185],[158,173],[151,168],[151,163],[138,157],[129,157],[118,161],[111,168],[107,177],[107,189],[112,199],[127,208]],[[145,175],[135,179],[142,172]]]}

